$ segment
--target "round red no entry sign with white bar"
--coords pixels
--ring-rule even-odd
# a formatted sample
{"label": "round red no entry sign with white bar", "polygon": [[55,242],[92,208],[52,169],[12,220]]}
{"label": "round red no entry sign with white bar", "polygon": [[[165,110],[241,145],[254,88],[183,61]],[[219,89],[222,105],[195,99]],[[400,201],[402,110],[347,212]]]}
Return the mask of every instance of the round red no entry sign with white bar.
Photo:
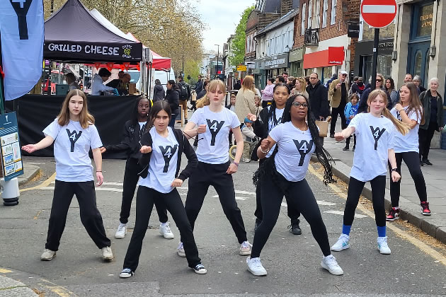
{"label": "round red no entry sign with white bar", "polygon": [[384,28],[390,25],[396,16],[395,0],[363,0],[361,15],[367,25]]}

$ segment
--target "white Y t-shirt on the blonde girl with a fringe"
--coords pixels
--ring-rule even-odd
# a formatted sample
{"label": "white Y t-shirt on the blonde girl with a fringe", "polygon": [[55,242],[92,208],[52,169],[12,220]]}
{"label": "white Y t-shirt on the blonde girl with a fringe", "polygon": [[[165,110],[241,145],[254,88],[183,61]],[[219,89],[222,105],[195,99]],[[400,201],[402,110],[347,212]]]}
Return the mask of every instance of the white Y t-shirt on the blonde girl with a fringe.
{"label": "white Y t-shirt on the blonde girl with a fringe", "polygon": [[229,130],[240,126],[235,112],[222,108],[212,112],[209,106],[195,110],[189,122],[206,125],[206,132],[198,134],[198,161],[210,164],[223,164],[229,161]]}

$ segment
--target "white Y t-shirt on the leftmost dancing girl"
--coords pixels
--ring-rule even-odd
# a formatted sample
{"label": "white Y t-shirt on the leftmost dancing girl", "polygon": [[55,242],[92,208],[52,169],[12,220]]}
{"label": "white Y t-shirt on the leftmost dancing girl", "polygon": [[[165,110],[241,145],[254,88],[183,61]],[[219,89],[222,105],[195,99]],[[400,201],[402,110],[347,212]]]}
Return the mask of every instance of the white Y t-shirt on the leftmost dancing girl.
{"label": "white Y t-shirt on the leftmost dancing girl", "polygon": [[88,182],[93,180],[93,165],[88,156],[90,148],[100,148],[101,138],[96,126],[81,127],[79,122],[69,120],[65,126],[57,118],[44,130],[45,136],[55,139],[56,180],[62,182]]}

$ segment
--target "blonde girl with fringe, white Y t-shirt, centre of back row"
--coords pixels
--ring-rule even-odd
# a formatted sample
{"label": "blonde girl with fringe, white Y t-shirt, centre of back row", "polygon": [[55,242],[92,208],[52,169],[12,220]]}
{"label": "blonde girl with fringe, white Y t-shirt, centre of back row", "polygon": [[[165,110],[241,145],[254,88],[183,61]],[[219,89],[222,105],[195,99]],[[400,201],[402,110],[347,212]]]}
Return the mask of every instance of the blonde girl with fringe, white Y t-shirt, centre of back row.
{"label": "blonde girl with fringe, white Y t-shirt, centre of back row", "polygon": [[[209,83],[209,91],[205,98],[205,107],[195,110],[184,134],[188,137],[198,136],[198,168],[189,178],[188,197],[185,210],[190,225],[194,228],[195,220],[200,213],[210,185],[219,195],[224,214],[231,223],[232,229],[241,244],[239,254],[250,255],[251,244],[246,238],[246,231],[237,206],[234,192],[232,174],[237,172],[243,153],[243,137],[240,131],[240,121],[237,115],[222,105],[226,86],[219,79]],[[229,131],[235,136],[237,142],[234,162],[229,162]],[[199,134],[199,135],[198,135]],[[183,243],[178,247],[178,254],[183,254]]]}

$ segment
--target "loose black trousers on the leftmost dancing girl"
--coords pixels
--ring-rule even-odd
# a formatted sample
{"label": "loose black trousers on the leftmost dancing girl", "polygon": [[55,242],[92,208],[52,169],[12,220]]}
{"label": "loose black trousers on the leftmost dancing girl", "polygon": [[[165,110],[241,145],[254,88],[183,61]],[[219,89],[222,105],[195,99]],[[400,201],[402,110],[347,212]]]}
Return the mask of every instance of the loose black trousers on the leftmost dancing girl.
{"label": "loose black trousers on the leftmost dancing girl", "polygon": [[74,194],[76,194],[77,202],[79,202],[81,222],[88,235],[98,248],[109,247],[111,245],[110,239],[105,235],[102,216],[96,207],[96,192],[94,191],[93,180],[89,182],[62,182],[56,180],[45,248],[59,250],[60,238],[62,238],[67,222],[69,204],[72,203]]}

